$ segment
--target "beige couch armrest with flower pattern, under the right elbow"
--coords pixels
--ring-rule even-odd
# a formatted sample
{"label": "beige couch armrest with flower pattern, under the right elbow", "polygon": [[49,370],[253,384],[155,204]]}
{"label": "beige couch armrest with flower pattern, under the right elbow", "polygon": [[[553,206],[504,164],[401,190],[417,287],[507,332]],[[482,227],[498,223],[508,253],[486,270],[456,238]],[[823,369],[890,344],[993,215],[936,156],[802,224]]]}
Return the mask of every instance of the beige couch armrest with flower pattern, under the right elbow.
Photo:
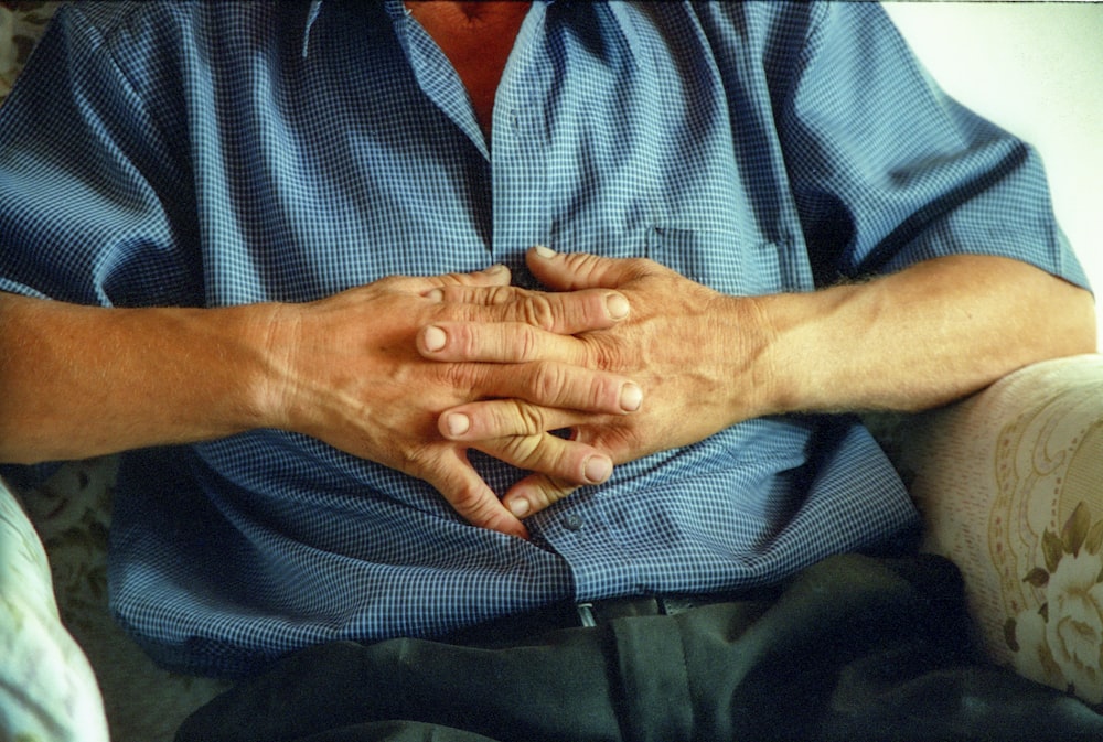
{"label": "beige couch armrest with flower pattern, under the right elbow", "polygon": [[906,430],[924,549],[962,570],[988,654],[1103,702],[1103,356],[1024,368]]}

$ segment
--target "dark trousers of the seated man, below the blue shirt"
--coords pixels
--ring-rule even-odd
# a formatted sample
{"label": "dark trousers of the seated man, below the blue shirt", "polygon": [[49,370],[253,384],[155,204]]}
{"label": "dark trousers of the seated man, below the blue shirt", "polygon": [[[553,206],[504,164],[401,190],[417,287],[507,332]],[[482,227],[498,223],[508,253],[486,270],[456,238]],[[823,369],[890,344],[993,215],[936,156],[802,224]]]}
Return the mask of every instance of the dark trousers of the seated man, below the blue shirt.
{"label": "dark trousers of the seated man, below the blue shirt", "polygon": [[1103,740],[1103,717],[983,663],[956,570],[827,559],[773,600],[501,644],[307,649],[178,742]]}

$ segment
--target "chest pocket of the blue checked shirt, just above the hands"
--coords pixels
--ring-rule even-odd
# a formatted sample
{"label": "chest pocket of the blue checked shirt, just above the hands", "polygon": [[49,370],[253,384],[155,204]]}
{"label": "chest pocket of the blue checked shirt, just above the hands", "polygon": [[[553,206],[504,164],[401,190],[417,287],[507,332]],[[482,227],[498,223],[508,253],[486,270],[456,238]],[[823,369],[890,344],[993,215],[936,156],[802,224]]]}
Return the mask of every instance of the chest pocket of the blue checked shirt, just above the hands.
{"label": "chest pocket of the blue checked shirt, just above the hands", "polygon": [[736,232],[654,226],[645,251],[655,262],[721,293],[753,297],[784,289],[782,249]]}

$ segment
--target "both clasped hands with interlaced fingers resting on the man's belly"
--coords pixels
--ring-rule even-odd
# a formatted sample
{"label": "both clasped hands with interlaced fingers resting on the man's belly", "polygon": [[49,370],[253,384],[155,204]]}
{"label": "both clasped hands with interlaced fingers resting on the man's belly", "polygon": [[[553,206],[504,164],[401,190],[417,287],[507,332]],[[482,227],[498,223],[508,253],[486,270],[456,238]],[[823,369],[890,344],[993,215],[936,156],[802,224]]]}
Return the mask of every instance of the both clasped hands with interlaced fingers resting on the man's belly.
{"label": "both clasped hands with interlaced fingers resting on the man's belly", "polygon": [[[282,326],[282,426],[432,485],[470,523],[522,521],[618,463],[761,412],[753,309],[646,259],[534,248],[505,268],[387,278]],[[752,303],[752,302],[751,302]],[[277,344],[274,342],[274,347]],[[568,429],[567,439],[553,434]],[[499,499],[474,449],[529,472]]]}

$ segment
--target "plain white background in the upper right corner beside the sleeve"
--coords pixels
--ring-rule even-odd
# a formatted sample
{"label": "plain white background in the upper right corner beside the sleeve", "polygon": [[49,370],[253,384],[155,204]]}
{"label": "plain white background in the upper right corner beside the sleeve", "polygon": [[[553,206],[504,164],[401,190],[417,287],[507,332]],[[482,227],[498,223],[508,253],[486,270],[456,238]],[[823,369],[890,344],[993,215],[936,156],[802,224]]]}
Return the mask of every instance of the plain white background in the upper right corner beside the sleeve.
{"label": "plain white background in the upper right corner beside the sleeve", "polygon": [[950,95],[1041,152],[1103,345],[1103,3],[884,4]]}

